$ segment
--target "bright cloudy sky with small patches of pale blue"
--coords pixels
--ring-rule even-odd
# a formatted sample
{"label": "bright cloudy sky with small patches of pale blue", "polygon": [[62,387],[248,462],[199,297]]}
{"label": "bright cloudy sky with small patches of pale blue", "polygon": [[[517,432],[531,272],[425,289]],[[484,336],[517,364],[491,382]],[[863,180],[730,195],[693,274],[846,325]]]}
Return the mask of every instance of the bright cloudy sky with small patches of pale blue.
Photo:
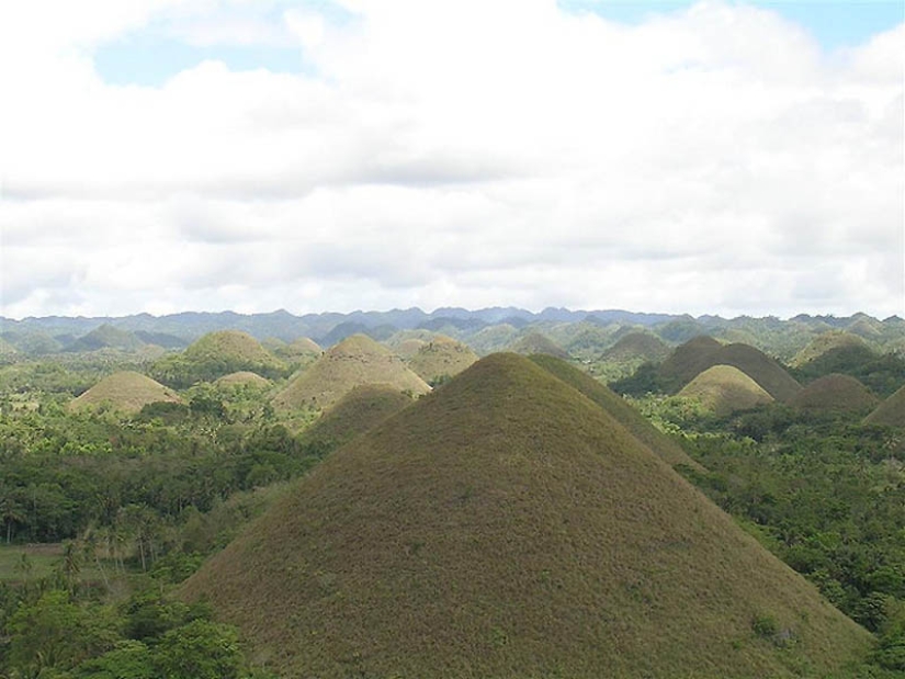
{"label": "bright cloudy sky with small patches of pale blue", "polygon": [[0,3],[0,316],[905,316],[903,2]]}

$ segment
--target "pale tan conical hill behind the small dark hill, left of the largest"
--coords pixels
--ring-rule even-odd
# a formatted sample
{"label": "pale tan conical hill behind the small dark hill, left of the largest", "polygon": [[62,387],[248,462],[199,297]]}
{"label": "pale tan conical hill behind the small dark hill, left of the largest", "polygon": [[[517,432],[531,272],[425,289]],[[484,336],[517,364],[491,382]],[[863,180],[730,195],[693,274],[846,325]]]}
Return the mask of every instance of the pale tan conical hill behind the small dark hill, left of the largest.
{"label": "pale tan conical hill behind the small dark hill, left of the largest", "polygon": [[273,399],[283,410],[326,408],[362,384],[388,384],[420,395],[428,384],[403,360],[366,335],[353,335],[331,347]]}

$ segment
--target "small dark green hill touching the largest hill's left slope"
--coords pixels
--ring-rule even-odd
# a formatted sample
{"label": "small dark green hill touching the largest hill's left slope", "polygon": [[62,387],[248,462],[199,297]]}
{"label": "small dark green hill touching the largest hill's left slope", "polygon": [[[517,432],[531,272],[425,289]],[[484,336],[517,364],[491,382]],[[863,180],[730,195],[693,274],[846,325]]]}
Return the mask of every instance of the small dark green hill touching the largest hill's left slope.
{"label": "small dark green hill touching the largest hill's left slope", "polygon": [[302,440],[339,448],[412,403],[411,396],[386,384],[357,386],[306,429]]}

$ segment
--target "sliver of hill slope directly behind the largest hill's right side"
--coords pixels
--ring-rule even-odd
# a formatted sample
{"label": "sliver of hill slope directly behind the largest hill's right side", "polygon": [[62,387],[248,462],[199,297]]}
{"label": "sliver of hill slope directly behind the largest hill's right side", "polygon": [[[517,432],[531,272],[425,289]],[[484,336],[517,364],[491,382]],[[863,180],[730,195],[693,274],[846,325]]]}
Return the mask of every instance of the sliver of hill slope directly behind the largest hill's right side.
{"label": "sliver of hill slope directly behind the largest hill's right side", "polygon": [[685,465],[699,472],[703,471],[703,467],[689,457],[678,443],[648,422],[641,412],[608,386],[562,359],[534,354],[531,360],[603,408],[614,420],[671,466]]}

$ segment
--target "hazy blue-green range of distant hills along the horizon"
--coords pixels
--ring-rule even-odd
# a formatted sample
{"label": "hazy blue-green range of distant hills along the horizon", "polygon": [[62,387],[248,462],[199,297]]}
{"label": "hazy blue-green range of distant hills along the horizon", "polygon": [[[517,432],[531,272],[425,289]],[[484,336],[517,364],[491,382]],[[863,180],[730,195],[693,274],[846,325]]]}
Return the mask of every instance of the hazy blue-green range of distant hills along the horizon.
{"label": "hazy blue-green range of distant hills along the horizon", "polygon": [[[801,366],[811,373],[816,373],[819,367],[821,361],[815,364],[815,359],[821,359],[829,350],[835,350],[829,351],[829,359],[837,362],[836,353],[840,350],[844,358],[852,351],[905,353],[905,320],[898,316],[881,320],[866,314],[847,317],[799,315],[790,319],[739,316],[726,319],[709,315],[692,317],[620,309],[570,310],[551,307],[534,313],[516,307],[477,310],[443,307],[430,313],[409,308],[301,316],[281,309],[250,315],[186,312],[168,316],[48,316],[21,320],[0,317],[0,339],[4,342],[2,357],[5,360],[11,360],[10,357],[21,359],[66,352],[134,352],[147,347],[182,350],[199,338],[222,330],[242,331],[269,346],[276,342],[291,344],[299,338],[308,338],[325,350],[359,333],[377,341],[392,341],[400,332],[442,333],[468,344],[479,355],[508,349],[520,338],[540,333],[577,359],[603,358],[607,361],[625,361],[626,357],[622,355],[625,351],[633,355],[652,351],[665,354],[665,348],[709,336],[721,342],[750,344],[783,363]],[[614,347],[629,333],[634,333],[634,337],[623,346]],[[646,341],[645,346],[640,346],[642,339]],[[611,348],[615,354],[602,355]],[[824,371],[821,369],[819,372]],[[837,367],[830,372],[841,371]],[[808,373],[808,376],[821,375]]]}

